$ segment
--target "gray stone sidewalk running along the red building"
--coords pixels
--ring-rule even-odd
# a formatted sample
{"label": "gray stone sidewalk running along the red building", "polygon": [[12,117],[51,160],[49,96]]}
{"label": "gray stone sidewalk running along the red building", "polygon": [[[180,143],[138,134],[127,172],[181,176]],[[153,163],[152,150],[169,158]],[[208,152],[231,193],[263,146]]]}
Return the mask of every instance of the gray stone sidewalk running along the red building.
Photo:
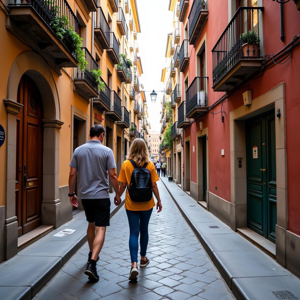
{"label": "gray stone sidewalk running along the red building", "polygon": [[238,300],[300,299],[300,279],[161,177],[187,223]]}

